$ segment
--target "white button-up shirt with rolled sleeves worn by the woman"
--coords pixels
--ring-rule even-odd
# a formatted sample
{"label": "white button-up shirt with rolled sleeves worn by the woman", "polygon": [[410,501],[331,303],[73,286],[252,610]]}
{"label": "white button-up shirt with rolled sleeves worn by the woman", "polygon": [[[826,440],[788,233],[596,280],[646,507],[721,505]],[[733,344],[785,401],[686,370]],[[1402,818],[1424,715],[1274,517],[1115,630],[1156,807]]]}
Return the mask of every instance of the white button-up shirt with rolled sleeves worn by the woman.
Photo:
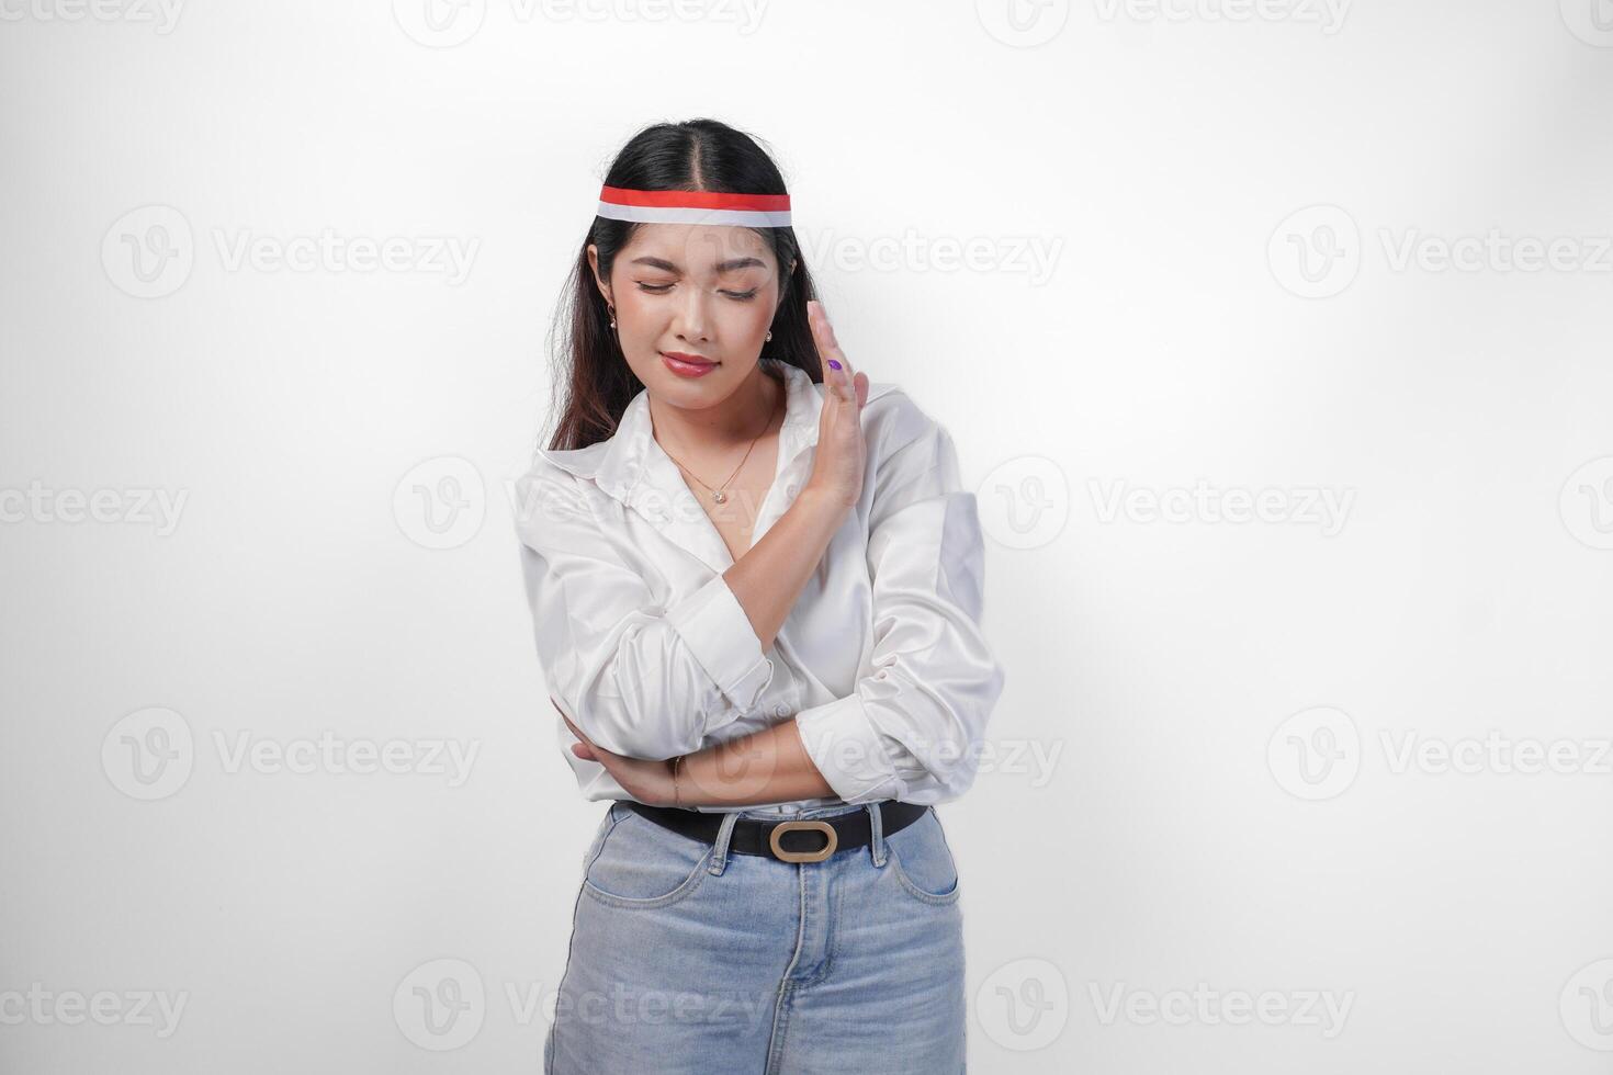
{"label": "white button-up shirt with rolled sleeves worn by the woman", "polygon": [[[753,542],[805,487],[823,409],[805,371],[763,361],[786,377],[787,413]],[[723,579],[734,558],[656,443],[648,405],[640,390],[608,440],[539,450],[516,482],[537,656],[566,716],[634,757],[700,751],[794,716],[836,791],[703,811],[963,795],[1005,675],[981,633],[986,550],[947,430],[900,387],[869,385],[863,495],[763,651]],[[558,714],[555,728],[584,798],[632,798],[571,753]]]}

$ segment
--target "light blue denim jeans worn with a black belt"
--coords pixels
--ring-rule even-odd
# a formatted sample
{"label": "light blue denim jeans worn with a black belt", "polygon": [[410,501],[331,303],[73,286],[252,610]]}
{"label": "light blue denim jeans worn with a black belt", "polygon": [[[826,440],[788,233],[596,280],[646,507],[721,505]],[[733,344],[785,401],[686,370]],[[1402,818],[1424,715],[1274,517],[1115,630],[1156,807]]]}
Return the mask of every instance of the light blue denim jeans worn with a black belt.
{"label": "light blue denim jeans worn with a black belt", "polygon": [[611,803],[582,862],[545,1075],[965,1070],[958,874],[936,811],[823,862],[731,854]]}

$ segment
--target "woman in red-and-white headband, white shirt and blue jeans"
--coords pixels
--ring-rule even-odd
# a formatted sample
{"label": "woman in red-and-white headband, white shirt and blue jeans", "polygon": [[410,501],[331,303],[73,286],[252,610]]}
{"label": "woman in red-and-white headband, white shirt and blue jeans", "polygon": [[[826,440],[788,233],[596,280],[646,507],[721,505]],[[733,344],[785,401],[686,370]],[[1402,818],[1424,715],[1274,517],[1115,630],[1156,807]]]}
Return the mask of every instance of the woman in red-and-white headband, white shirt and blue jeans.
{"label": "woman in red-and-white headband, white shirt and blue jeans", "polygon": [[853,371],[779,169],[721,122],[623,148],[573,285],[519,533],[566,761],[611,804],[545,1070],[961,1072],[931,807],[1003,672],[952,440]]}

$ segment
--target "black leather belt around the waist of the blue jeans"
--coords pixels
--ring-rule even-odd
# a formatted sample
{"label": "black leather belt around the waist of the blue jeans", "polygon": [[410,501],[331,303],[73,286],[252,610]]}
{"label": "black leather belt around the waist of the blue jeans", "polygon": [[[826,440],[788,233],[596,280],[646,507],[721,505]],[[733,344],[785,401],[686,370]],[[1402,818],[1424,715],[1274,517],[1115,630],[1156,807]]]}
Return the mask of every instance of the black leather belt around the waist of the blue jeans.
{"label": "black leather belt around the waist of the blue jeans", "polygon": [[[716,843],[716,833],[726,817],[711,811],[647,806],[634,799],[623,799],[623,804],[648,817],[656,825],[671,828],[690,840],[700,840],[702,843]],[[889,836],[916,822],[929,807],[918,806],[916,803],[881,799],[877,809],[879,832]],[[873,824],[868,819],[866,809],[847,811],[834,817],[813,817],[810,820],[740,817],[734,822],[727,849],[739,854],[763,854],[781,862],[823,862],[836,851],[866,848],[873,841]]]}

